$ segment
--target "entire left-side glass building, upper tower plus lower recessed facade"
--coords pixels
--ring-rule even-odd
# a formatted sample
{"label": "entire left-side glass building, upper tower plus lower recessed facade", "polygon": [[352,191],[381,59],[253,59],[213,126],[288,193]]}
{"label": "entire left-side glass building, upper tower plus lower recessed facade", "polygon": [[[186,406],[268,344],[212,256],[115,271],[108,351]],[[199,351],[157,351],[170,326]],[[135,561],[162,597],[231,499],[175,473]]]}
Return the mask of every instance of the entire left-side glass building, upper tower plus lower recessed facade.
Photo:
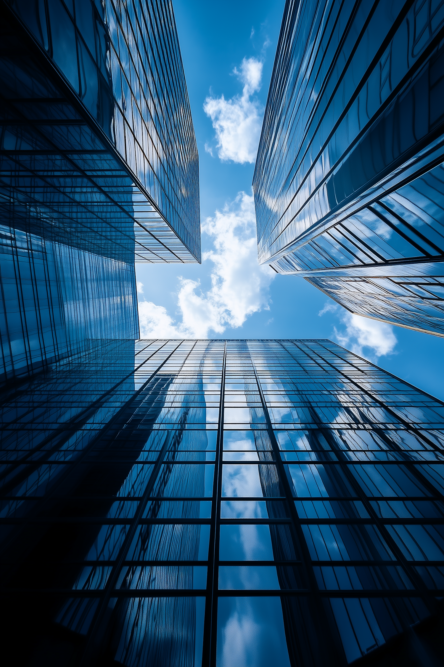
{"label": "entire left-side glass building, upper tower plus lower recessed facade", "polygon": [[138,336],[134,260],[200,261],[171,4],[0,0],[3,378]]}

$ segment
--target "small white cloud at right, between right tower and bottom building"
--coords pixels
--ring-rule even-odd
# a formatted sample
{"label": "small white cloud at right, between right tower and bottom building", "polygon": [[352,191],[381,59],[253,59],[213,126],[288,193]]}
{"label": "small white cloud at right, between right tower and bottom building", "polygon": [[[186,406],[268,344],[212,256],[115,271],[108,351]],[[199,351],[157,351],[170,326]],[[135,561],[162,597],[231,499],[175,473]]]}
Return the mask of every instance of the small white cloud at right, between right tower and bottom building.
{"label": "small white cloud at right, between right tower and bottom building", "polygon": [[393,327],[389,324],[347,311],[341,320],[346,330],[337,331],[336,327],[333,327],[335,338],[339,344],[351,352],[365,356],[363,348],[370,348],[375,357],[381,357],[391,354],[395,349],[397,338],[393,333]]}

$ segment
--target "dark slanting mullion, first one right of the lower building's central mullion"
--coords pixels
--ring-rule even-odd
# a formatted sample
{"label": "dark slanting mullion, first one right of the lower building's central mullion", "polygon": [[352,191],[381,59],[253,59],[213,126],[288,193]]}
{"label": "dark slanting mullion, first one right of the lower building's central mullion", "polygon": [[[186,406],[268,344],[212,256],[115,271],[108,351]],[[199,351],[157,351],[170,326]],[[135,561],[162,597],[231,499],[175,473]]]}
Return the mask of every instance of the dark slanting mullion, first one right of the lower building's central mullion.
{"label": "dark slanting mullion, first one right of the lower building's central mullion", "polygon": [[[251,356],[251,352],[250,352]],[[288,478],[286,475],[286,470],[284,467],[284,462],[282,461],[280,457],[280,449],[278,445],[278,441],[276,440],[276,436],[274,434],[274,430],[272,427],[272,422],[270,419],[270,413],[268,412],[268,406],[266,404],[264,392],[262,391],[262,386],[260,384],[260,379],[258,376],[258,372],[256,370],[256,364],[253,361],[253,358],[251,356],[251,361],[252,361],[252,367],[254,371],[254,375],[256,377],[256,382],[258,384],[258,390],[260,393],[260,398],[262,401],[262,408],[264,410],[264,416],[266,419],[266,424],[268,427],[268,435],[270,437],[270,442],[272,444],[272,449],[274,451],[274,458],[276,459],[276,468],[278,469],[278,474],[280,477],[280,482],[282,484],[282,488],[284,488],[284,493],[286,494],[286,500],[288,503],[288,508],[290,510],[290,515],[292,517],[292,524],[294,527],[294,532],[296,533],[297,536],[297,541],[294,545],[296,553],[300,552],[302,556],[302,567],[304,568],[304,572],[306,574],[306,581],[308,581],[309,584],[309,590],[308,592],[305,593],[305,595],[308,594],[309,599],[314,602],[314,611],[316,610],[316,614],[318,616],[318,621],[320,621],[320,624],[324,628],[325,632],[325,640],[326,643],[328,642],[330,646],[334,646],[335,650],[337,652],[337,656],[340,656],[339,659],[335,662],[338,664],[347,664],[347,660],[345,658],[345,653],[343,652],[342,644],[339,640],[338,636],[333,636],[332,634],[332,629],[334,626],[334,622],[332,624],[332,620],[328,619],[328,614],[326,607],[322,603],[321,596],[320,596],[320,590],[318,588],[318,582],[316,580],[316,576],[314,574],[314,569],[313,569],[313,564],[312,564],[312,559],[310,557],[310,553],[308,551],[308,546],[304,537],[304,532],[302,531],[302,526],[300,524],[300,519],[298,516],[298,512],[296,510],[296,506],[294,504],[294,498],[292,494],[292,490],[290,488],[290,483],[288,482]],[[324,649],[322,649],[322,653],[324,653]],[[327,656],[324,656],[327,657]]]}

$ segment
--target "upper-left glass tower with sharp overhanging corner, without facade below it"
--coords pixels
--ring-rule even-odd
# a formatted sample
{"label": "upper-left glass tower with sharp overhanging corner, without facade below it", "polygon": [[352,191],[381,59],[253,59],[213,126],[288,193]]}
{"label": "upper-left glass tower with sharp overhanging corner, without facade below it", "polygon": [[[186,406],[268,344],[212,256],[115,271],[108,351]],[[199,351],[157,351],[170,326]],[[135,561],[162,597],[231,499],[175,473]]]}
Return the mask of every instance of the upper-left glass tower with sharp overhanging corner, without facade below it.
{"label": "upper-left glass tower with sharp overhanging corner, without facade below it", "polygon": [[74,229],[73,243],[124,261],[134,236],[136,261],[200,261],[198,155],[171,5],[1,5],[5,219],[51,237]]}

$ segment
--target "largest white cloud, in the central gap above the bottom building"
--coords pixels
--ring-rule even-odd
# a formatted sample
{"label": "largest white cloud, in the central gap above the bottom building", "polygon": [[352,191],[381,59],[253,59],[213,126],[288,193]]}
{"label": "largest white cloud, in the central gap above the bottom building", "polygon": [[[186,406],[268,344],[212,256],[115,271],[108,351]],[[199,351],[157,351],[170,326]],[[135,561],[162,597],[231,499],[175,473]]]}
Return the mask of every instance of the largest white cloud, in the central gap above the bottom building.
{"label": "largest white cloud, in the central gap above the bottom building", "polygon": [[202,223],[202,231],[213,241],[213,249],[202,253],[203,261],[212,262],[211,288],[202,292],[199,281],[180,278],[177,323],[163,306],[140,301],[141,338],[208,338],[209,331],[240,327],[252,313],[269,309],[276,273],[258,265],[253,197],[240,192]]}

